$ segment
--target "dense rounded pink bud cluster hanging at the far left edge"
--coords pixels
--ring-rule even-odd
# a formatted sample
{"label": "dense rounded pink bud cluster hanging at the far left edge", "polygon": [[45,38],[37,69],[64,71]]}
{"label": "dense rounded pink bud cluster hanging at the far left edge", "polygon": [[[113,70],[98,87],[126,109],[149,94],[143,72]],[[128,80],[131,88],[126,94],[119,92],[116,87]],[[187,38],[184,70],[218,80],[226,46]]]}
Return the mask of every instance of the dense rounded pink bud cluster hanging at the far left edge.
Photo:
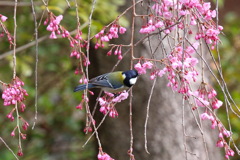
{"label": "dense rounded pink bud cluster hanging at the far left edge", "polygon": [[16,103],[21,104],[22,111],[25,109],[25,96],[28,96],[27,91],[22,88],[24,86],[23,81],[19,78],[13,80],[12,84],[9,84],[7,88],[3,91],[2,99],[4,100],[4,105],[9,106]]}

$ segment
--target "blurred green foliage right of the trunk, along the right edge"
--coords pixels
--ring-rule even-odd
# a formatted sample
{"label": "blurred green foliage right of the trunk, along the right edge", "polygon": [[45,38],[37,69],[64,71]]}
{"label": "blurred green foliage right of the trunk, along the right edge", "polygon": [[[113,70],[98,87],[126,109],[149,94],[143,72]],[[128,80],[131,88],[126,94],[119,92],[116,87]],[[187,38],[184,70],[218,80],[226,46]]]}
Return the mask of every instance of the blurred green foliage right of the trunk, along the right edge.
{"label": "blurred green foliage right of the trunk, along the right edge", "polygon": [[[224,35],[221,37],[222,45],[219,45],[221,65],[224,75],[224,80],[228,86],[228,89],[236,102],[237,106],[240,106],[240,17],[236,14],[230,12],[224,17]],[[218,87],[218,93],[221,93],[221,89]],[[221,100],[224,101],[223,94],[219,94]],[[232,106],[234,106],[232,104]],[[234,108],[234,107],[233,107]],[[228,126],[226,109],[221,108],[220,119],[226,126]],[[236,144],[240,144],[239,140],[239,118],[230,112],[229,114],[230,122],[232,124],[233,138]],[[235,156],[232,159],[239,159],[239,156]]]}

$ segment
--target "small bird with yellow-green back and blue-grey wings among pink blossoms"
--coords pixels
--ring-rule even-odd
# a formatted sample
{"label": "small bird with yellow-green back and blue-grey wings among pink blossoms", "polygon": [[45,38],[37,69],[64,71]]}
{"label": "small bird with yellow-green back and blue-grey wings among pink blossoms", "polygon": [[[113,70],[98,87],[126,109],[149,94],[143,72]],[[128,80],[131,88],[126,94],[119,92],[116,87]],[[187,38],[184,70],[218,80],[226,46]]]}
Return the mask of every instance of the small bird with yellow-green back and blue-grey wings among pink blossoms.
{"label": "small bird with yellow-green back and blue-grey wings among pink blossoms", "polygon": [[87,85],[83,84],[75,87],[74,92],[90,88],[101,88],[106,92],[117,93],[133,86],[137,81],[137,77],[136,70],[106,73],[90,79]]}

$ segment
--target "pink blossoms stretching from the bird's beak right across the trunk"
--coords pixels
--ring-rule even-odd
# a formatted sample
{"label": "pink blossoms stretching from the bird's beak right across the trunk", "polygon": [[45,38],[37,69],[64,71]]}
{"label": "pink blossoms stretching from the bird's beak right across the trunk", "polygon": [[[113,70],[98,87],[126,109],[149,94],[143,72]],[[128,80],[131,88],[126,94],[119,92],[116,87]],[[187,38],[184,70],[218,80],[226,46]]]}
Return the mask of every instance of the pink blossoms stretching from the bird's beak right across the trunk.
{"label": "pink blossoms stretching from the bird's beak right across the trunk", "polygon": [[[198,72],[195,70],[198,60],[192,56],[198,48],[198,43],[193,44],[193,47],[188,46],[185,49],[182,46],[176,47],[167,58],[163,59],[162,63],[165,64],[165,67],[161,70],[155,69],[151,73],[150,79],[153,80],[157,76],[162,77],[167,74],[168,87],[179,93],[188,94],[188,84],[190,84],[191,80],[196,81],[198,76]],[[153,64],[149,61],[142,65],[137,63],[134,68],[139,74],[145,74],[146,69],[153,68]]]}

